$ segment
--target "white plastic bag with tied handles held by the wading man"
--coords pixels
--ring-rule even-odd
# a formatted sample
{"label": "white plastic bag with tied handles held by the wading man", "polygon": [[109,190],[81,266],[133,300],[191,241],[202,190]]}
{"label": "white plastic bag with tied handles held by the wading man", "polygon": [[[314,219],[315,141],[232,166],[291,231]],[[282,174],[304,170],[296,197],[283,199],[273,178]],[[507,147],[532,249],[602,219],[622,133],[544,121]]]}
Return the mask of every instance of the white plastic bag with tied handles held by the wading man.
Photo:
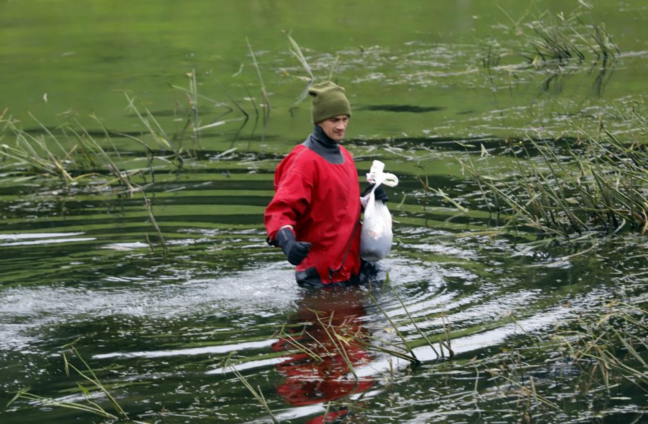
{"label": "white plastic bag with tied handles held by the wading man", "polygon": [[383,172],[385,164],[381,161],[374,161],[371,172],[367,174],[367,181],[375,183],[372,191],[362,198],[365,205],[365,219],[360,232],[360,256],[365,261],[376,262],[385,259],[392,248],[392,214],[389,214],[387,205],[382,201],[376,201],[374,191],[381,185],[395,187],[398,185],[398,177],[394,174]]}

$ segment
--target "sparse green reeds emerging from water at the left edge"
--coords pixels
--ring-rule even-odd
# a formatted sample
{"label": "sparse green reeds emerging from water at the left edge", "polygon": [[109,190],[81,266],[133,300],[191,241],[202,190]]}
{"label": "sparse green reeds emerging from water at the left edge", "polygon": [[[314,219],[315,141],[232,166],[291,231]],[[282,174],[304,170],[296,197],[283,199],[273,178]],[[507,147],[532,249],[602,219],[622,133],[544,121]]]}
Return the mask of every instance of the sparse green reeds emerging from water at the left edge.
{"label": "sparse green reeds emerging from water at the left edge", "polygon": [[[8,109],[3,110],[0,113],[2,130],[0,141],[3,141],[0,144],[0,167],[8,171],[3,178],[14,178],[17,181],[25,178],[42,179],[53,185],[61,184],[65,187],[62,192],[68,196],[74,196],[78,192],[99,193],[107,189],[114,191],[118,196],[132,197],[139,193],[143,197],[143,207],[147,211],[158,241],[166,252],[168,247],[153,214],[152,199],[145,194],[145,190],[155,183],[156,171],[177,171],[183,167],[185,158],[192,157],[190,150],[181,147],[186,130],[191,130],[192,140],[196,142],[201,130],[229,121],[241,120],[217,121],[201,126],[198,101],[204,96],[197,91],[196,73],[192,71],[188,75],[190,86],[188,89],[182,89],[188,97],[188,121],[185,127],[174,136],[170,136],[163,129],[150,110],[147,108],[142,110],[138,99],[128,93],[124,93],[128,101],[128,110],[139,119],[144,128],[139,135],[108,130],[103,121],[94,114],[90,114],[90,119],[99,125],[99,132],[88,130],[72,115],[68,115],[67,121],[57,128],[50,129],[30,114],[42,130],[42,134],[34,135],[34,131],[23,130],[19,121],[8,113]],[[265,88],[263,90],[265,96]],[[230,99],[234,101],[231,97]],[[216,104],[216,101],[209,100]],[[245,125],[249,115],[240,108],[238,103],[235,101],[234,103],[245,115],[243,122]],[[269,103],[267,105],[269,107]],[[103,133],[103,139],[99,139],[97,133]],[[123,160],[123,152],[117,149],[113,137],[123,137],[141,145],[147,165],[143,168],[128,168]],[[136,176],[144,179],[143,185],[134,183]],[[147,176],[150,176],[151,184],[146,183]],[[154,250],[154,244],[148,234],[145,235],[145,239]]]}

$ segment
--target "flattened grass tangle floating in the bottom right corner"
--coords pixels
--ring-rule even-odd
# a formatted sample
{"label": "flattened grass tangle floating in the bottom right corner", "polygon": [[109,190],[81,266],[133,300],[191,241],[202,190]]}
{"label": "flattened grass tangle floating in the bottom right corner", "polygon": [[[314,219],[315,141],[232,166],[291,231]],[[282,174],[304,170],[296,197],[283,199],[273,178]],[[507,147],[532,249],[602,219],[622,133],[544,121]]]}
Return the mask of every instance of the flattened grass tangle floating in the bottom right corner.
{"label": "flattened grass tangle floating in the bottom right corner", "polygon": [[[589,414],[603,416],[624,399],[618,396],[623,387],[638,389],[639,396],[648,393],[648,313],[643,306],[613,301],[605,314],[574,313],[576,329],[557,328],[550,339],[526,335],[500,354],[440,369],[467,374],[473,367],[474,401],[483,406],[505,401],[522,422],[531,417],[554,421],[551,416],[564,417],[566,403],[575,402],[589,403]],[[533,347],[527,345],[529,338]],[[496,390],[483,392],[493,383]]]}

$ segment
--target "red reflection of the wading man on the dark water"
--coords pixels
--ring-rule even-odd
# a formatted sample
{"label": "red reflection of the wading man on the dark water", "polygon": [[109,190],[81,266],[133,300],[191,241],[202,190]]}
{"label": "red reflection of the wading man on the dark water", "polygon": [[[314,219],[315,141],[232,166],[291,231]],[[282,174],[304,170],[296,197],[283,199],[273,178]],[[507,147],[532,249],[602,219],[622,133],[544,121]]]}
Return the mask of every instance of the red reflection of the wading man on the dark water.
{"label": "red reflection of the wading man on the dark water", "polygon": [[[356,367],[373,359],[356,343],[368,338],[363,299],[360,287],[304,293],[285,333],[272,345],[275,351],[298,350],[276,365],[285,376],[277,393],[290,405],[327,403],[372,387],[372,377],[358,378],[355,373]],[[308,422],[332,422],[348,413],[327,412]]]}

